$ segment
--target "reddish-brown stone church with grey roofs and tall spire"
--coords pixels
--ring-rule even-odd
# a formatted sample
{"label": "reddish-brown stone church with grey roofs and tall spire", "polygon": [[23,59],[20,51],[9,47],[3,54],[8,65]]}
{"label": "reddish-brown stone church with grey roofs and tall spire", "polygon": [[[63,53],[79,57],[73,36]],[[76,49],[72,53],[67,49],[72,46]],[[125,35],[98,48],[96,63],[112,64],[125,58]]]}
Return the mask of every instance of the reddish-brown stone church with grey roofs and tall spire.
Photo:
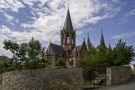
{"label": "reddish-brown stone church with grey roofs and tall spire", "polygon": [[[80,57],[87,54],[91,42],[89,36],[87,43],[84,41],[81,45],[76,45],[76,31],[73,28],[70,11],[68,9],[63,29],[60,32],[60,45],[49,43],[45,52],[45,60],[49,65],[55,66],[58,60],[65,60],[70,65],[76,66]],[[103,34],[101,35],[100,44],[104,43]]]}

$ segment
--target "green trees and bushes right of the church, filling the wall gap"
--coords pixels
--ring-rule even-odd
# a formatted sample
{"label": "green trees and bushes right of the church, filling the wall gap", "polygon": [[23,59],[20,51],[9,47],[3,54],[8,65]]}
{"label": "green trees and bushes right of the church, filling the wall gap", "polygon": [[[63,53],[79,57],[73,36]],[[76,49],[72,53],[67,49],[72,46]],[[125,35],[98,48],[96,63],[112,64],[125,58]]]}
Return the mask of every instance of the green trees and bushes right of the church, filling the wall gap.
{"label": "green trees and bushes right of the church, filling the wall gap", "polygon": [[83,68],[85,81],[104,84],[106,67],[130,64],[134,60],[134,56],[134,48],[127,46],[122,40],[118,40],[114,48],[110,46],[106,48],[102,45],[90,48],[90,52],[79,61],[79,65]]}

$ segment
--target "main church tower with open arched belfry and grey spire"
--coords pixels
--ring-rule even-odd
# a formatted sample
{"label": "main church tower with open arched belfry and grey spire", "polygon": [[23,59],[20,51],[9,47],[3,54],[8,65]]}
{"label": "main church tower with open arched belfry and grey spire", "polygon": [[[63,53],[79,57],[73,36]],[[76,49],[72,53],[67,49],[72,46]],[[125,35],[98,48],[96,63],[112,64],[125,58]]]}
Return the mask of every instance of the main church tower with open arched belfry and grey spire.
{"label": "main church tower with open arched belfry and grey spire", "polygon": [[75,47],[76,33],[73,29],[69,9],[65,19],[64,27],[61,30],[61,46],[65,51],[71,51]]}

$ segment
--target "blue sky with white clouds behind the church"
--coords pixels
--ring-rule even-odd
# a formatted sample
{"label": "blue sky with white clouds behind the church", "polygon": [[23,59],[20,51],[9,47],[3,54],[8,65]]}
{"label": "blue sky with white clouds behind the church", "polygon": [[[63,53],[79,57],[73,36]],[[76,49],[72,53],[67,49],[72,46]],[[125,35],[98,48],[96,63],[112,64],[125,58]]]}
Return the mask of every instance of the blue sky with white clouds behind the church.
{"label": "blue sky with white clouds behind the church", "polygon": [[34,37],[43,47],[50,41],[60,44],[68,5],[77,45],[87,33],[99,45],[103,29],[107,46],[122,39],[135,47],[135,0],[0,0],[0,55],[12,56],[2,44],[9,39],[22,43]]}

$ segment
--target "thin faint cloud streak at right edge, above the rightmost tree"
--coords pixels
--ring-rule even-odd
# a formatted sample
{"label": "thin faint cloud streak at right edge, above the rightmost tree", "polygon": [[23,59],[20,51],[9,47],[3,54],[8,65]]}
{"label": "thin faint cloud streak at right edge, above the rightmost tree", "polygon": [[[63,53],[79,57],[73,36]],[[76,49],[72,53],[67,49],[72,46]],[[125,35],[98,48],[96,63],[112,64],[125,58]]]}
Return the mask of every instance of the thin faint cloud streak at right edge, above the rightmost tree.
{"label": "thin faint cloud streak at right edge, above the rightmost tree", "polygon": [[122,33],[119,35],[115,35],[113,37],[111,37],[111,39],[124,39],[124,38],[130,38],[135,36],[135,32],[126,32],[126,33]]}

